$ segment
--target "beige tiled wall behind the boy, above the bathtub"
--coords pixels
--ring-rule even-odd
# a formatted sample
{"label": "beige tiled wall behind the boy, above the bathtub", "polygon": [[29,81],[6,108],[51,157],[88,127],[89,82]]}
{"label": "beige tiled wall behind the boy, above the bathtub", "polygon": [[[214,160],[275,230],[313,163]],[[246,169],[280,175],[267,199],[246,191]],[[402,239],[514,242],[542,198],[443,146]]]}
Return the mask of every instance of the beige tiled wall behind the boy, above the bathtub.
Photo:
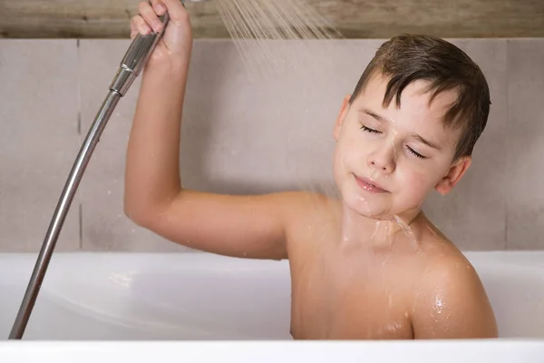
{"label": "beige tiled wall behind the boy, above the bathtub", "polygon": [[[376,40],[335,41],[249,74],[228,41],[197,41],[181,172],[189,188],[265,192],[331,181],[332,126]],[[491,85],[491,116],[468,174],[425,210],[463,250],[544,248],[544,39],[455,40]],[[81,142],[129,41],[0,40],[0,251],[37,251]],[[295,45],[282,45],[285,47]],[[305,51],[306,52],[306,51]],[[56,250],[187,250],[122,211],[140,79],[83,176]]]}

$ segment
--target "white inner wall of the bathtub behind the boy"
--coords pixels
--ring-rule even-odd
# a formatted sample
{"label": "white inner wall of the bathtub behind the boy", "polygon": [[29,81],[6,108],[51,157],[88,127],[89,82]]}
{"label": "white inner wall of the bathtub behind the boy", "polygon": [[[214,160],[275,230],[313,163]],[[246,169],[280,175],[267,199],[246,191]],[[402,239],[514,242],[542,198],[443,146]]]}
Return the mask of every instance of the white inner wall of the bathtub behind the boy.
{"label": "white inner wall of the bathtub behind the boy", "polygon": [[[500,338],[544,339],[544,251],[466,252]],[[7,338],[36,254],[0,254]],[[53,255],[24,339],[291,339],[287,260],[208,253]]]}

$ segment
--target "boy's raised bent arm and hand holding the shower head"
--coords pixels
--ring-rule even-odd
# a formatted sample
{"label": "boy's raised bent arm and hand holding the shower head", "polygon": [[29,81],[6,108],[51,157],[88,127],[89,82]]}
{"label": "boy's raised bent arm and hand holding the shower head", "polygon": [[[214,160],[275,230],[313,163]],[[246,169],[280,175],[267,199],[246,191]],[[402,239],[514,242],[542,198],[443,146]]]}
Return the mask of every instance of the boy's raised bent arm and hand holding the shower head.
{"label": "boy's raised bent arm and hand holding the shower head", "polygon": [[[285,259],[287,215],[297,209],[296,193],[231,196],[182,188],[180,130],[192,36],[180,1],[153,1],[160,4],[166,5],[170,23],[142,74],[126,158],[125,213],[190,248]],[[163,11],[141,3],[131,36],[150,31],[148,25],[156,24]]]}

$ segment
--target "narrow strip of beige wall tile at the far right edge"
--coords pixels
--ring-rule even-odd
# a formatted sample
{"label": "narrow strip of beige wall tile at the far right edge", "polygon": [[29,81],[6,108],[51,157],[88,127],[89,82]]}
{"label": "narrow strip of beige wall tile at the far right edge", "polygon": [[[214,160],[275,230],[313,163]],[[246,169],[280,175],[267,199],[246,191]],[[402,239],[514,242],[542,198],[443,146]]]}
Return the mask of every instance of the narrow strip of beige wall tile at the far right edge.
{"label": "narrow strip of beige wall tile at the far right edge", "polygon": [[508,41],[508,249],[544,248],[544,39]]}

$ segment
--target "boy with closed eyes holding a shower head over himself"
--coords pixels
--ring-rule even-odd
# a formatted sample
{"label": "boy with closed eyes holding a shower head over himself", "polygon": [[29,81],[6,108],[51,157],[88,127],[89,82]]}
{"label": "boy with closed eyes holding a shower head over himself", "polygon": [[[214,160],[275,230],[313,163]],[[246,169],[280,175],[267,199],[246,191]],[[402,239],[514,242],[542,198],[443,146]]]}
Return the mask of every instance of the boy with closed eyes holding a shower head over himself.
{"label": "boy with closed eyes holding a shower head over himself", "polygon": [[[170,23],[142,74],[126,163],[132,221],[193,249],[288,259],[293,338],[495,338],[471,264],[425,218],[471,164],[490,100],[480,68],[428,36],[386,42],[335,121],[340,199],[182,189],[180,118],[192,35],[179,0],[141,3],[131,37]],[[264,281],[266,283],[266,281]]]}

